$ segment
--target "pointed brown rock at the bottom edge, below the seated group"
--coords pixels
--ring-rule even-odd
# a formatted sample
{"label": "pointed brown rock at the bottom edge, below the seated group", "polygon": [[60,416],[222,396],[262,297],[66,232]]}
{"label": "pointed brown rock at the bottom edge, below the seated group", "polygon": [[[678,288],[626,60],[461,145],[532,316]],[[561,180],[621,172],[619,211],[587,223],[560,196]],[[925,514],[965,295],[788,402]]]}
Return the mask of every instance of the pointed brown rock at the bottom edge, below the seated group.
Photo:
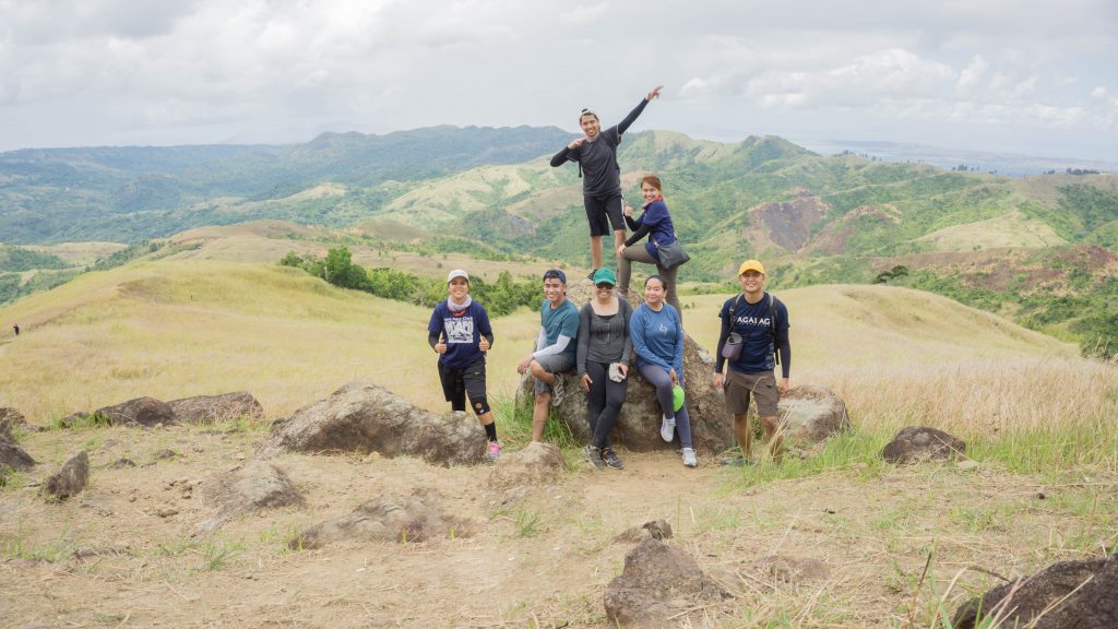
{"label": "pointed brown rock at the bottom edge, below the seated group", "polygon": [[625,570],[606,589],[610,625],[641,628],[690,626],[686,610],[729,599],[686,553],[647,538],[625,555]]}

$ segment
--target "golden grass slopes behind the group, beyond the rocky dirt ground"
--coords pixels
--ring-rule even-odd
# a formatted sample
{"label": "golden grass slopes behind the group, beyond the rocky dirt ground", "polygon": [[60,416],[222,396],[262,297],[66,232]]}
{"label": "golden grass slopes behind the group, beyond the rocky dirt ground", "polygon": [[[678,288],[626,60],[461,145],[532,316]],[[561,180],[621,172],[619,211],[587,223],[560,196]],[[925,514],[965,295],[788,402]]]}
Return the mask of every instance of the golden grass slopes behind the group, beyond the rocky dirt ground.
{"label": "golden grass slopes behind the group, beyond the rocky dirt ground", "polygon": [[[470,266],[468,264],[466,266]],[[833,285],[781,291],[792,383],[833,388],[855,423],[963,434],[1092,422],[1118,411],[1115,366],[929,293]],[[685,297],[688,331],[713,349],[726,295]],[[0,310],[0,404],[35,421],[150,395],[245,389],[269,416],[368,378],[443,411],[429,309],[330,287],[302,271],[160,261],[91,273]],[[489,378],[511,397],[539,314],[494,321]]]}

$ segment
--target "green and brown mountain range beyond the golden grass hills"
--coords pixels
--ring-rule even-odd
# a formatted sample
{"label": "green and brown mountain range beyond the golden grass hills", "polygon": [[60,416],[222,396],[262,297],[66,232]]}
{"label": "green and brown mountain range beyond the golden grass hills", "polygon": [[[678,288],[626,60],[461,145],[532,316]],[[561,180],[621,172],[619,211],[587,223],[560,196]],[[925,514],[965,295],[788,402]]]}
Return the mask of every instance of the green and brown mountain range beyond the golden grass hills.
{"label": "green and brown mountain range beyond the golden grass hills", "polygon": [[[548,163],[572,138],[556,128],[437,126],[287,147],[12,151],[0,153],[0,242],[134,244],[277,218],[411,251],[423,241],[585,266],[581,181],[574,165]],[[1112,326],[1118,342],[1109,314],[1118,312],[1118,175],[1082,173],[1099,165],[1076,162],[1079,173],[1069,163],[1011,177],[1011,162],[975,153],[940,153],[944,169],[930,158],[890,160],[918,148],[851,147],[823,156],[776,137],[720,143],[647,131],[626,135],[618,161],[634,205],[642,173],[663,179],[692,256],[685,280],[724,282],[741,260],[761,257],[774,285],[906,283],[1007,309],[1065,338],[1086,332],[1053,326],[1093,317],[1089,330]],[[0,272],[25,272],[35,260],[58,266],[8,250]],[[3,281],[10,294],[25,290],[26,279]],[[1064,298],[1063,314],[1049,317]]]}

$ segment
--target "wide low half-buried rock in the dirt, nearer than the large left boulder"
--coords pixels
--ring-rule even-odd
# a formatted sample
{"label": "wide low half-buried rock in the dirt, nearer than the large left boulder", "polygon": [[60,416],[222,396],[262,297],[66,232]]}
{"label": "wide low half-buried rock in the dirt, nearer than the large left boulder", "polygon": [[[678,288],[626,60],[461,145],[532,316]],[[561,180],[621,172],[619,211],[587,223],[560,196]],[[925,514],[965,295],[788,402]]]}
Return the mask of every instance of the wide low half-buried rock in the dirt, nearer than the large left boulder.
{"label": "wide low half-buried rock in the dirt, nearer than the large left boulder", "polygon": [[331,542],[424,542],[435,537],[472,535],[468,522],[444,515],[437,498],[417,492],[402,500],[376,498],[353,513],[318,524],[290,546],[319,548]]}

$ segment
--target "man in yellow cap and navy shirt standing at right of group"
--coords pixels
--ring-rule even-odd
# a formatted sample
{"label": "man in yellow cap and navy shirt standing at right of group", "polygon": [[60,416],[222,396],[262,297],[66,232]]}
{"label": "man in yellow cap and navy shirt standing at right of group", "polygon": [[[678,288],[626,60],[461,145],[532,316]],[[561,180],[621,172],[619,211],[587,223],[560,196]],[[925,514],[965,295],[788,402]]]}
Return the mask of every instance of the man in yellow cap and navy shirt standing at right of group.
{"label": "man in yellow cap and navy shirt standing at right of group", "polygon": [[[784,443],[777,417],[777,402],[788,392],[792,370],[792,344],[788,341],[788,309],[765,292],[765,266],[747,260],[738,269],[741,294],[722,304],[719,317],[722,329],[718,336],[718,360],[714,366],[714,388],[723,388],[722,366],[730,364],[724,379],[726,410],[733,414],[733,436],[741,457],[726,459],[723,464],[741,466],[749,461],[752,430],[747,421],[750,394],[757,398],[757,415],[769,441],[773,460],[780,463]],[[781,378],[776,382],[774,368],[780,364]]]}

